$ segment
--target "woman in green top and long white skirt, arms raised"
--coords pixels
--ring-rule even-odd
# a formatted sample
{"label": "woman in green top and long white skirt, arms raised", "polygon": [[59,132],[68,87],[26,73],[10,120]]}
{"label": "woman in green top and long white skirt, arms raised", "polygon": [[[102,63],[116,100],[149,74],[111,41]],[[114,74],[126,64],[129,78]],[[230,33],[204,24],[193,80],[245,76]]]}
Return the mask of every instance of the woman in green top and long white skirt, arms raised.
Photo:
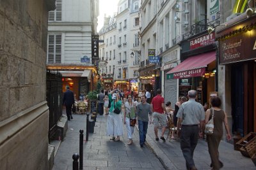
{"label": "woman in green top and long white skirt, arms raised", "polygon": [[[109,93],[109,101],[111,107],[109,108],[109,116],[107,122],[107,135],[112,136],[111,140],[120,141],[120,136],[123,135],[122,124],[122,101],[118,93],[113,94],[116,90]],[[112,96],[113,94],[113,96]],[[116,136],[116,138],[115,138]]]}

